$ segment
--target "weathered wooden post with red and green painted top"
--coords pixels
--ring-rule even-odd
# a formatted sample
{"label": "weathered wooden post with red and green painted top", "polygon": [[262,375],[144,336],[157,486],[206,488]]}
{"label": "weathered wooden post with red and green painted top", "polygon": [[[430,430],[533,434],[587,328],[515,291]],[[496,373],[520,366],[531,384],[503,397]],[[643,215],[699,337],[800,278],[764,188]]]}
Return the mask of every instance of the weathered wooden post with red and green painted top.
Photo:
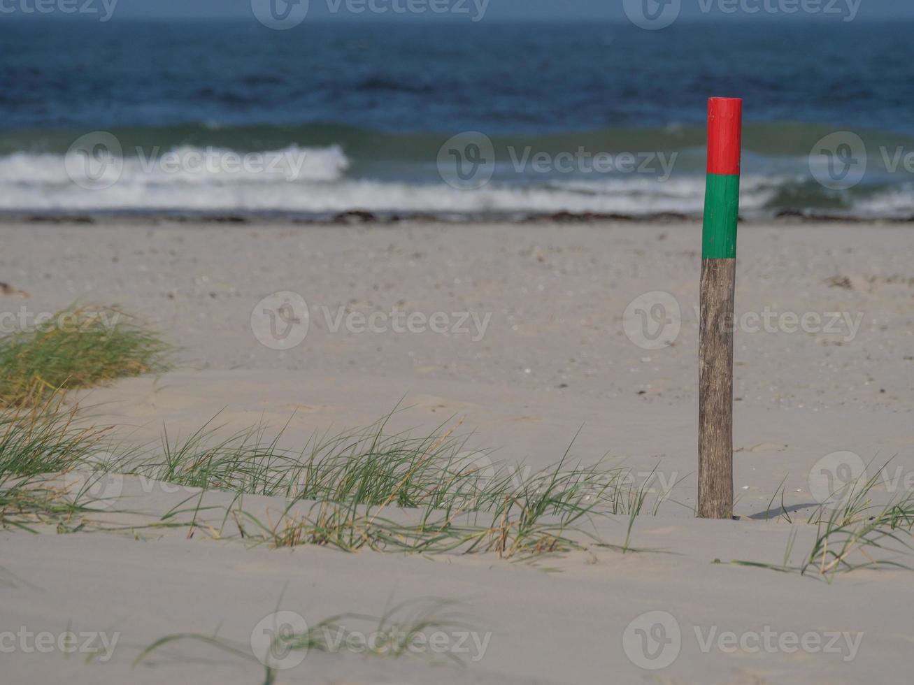
{"label": "weathered wooden post with red and green painted top", "polygon": [[707,107],[707,189],[698,340],[698,516],[733,516],[733,307],[742,100]]}

